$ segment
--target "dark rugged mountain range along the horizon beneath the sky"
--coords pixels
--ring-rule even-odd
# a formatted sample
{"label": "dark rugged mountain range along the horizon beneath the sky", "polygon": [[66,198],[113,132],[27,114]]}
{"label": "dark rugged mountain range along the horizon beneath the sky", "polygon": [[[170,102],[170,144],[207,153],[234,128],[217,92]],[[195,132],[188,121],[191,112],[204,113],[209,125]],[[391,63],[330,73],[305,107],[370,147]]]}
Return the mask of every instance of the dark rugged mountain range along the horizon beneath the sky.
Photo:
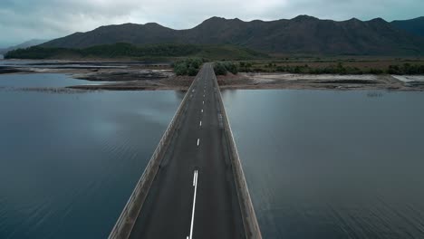
{"label": "dark rugged mountain range along the horizon beneath the sky", "polygon": [[235,44],[265,53],[417,55],[424,40],[381,18],[337,22],[308,15],[293,19],[244,22],[212,17],[187,30],[159,24],[101,26],[43,43],[43,47],[86,48],[98,44]]}

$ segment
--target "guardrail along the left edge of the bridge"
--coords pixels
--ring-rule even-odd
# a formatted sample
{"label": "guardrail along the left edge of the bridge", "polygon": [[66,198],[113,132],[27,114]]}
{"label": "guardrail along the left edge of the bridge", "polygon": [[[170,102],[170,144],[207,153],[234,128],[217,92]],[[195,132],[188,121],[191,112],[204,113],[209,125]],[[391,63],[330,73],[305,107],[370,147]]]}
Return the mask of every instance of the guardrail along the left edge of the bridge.
{"label": "guardrail along the left edge of the bridge", "polygon": [[162,138],[160,139],[158,147],[155,149],[153,155],[151,156],[149,164],[144,169],[139,182],[132,191],[130,199],[120,213],[118,221],[113,226],[111,234],[109,235],[110,239],[127,239],[130,236],[132,227],[134,226],[140,213],[140,209],[143,206],[143,203],[149,193],[149,188],[153,183],[153,179],[158,173],[159,165],[161,159],[163,158],[163,154],[168,147],[169,140],[172,138],[174,132],[177,129],[178,119],[180,119],[180,116],[183,114],[183,109],[186,105],[186,102],[188,101],[188,95],[190,95],[190,92],[193,91],[193,88],[197,82],[198,77],[196,77],[195,80],[191,83],[186,95],[184,96],[184,99],[179,104],[177,112],[169,123],[169,126],[163,134]]}

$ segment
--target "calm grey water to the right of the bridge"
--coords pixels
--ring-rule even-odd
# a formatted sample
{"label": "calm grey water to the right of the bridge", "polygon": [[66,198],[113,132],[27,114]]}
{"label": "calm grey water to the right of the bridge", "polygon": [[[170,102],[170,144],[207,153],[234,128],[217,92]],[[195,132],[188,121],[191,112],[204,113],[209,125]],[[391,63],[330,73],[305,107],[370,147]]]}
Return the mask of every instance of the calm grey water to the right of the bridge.
{"label": "calm grey water to the right of the bridge", "polygon": [[223,94],[264,238],[424,238],[423,92]]}

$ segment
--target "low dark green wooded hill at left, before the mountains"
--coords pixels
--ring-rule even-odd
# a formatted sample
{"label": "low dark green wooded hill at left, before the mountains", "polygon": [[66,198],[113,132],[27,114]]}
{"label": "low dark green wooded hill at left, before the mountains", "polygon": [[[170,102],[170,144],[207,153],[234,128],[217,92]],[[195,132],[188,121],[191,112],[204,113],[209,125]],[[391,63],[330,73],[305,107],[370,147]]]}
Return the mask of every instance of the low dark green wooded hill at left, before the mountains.
{"label": "low dark green wooded hill at left, before the mountains", "polygon": [[267,56],[250,49],[234,45],[197,45],[197,44],[149,44],[133,45],[130,43],[115,43],[97,45],[84,49],[50,48],[34,46],[6,53],[6,59],[74,59],[74,58],[180,58],[198,57],[210,60],[249,60],[263,59]]}

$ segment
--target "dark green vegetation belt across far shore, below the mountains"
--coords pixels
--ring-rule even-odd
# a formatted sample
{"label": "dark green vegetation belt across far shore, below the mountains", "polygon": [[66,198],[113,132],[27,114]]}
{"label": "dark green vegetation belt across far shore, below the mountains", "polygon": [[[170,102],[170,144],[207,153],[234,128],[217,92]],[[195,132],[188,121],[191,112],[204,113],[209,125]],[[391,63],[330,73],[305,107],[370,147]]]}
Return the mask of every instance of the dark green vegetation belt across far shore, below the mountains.
{"label": "dark green vegetation belt across far shore, below the mountains", "polygon": [[[97,45],[84,49],[45,48],[34,46],[14,50],[5,55],[6,59],[131,59],[174,61],[175,72],[194,75],[198,63],[220,61],[215,64],[217,74],[226,72],[290,72],[313,74],[424,74],[422,58],[390,58],[372,56],[313,56],[274,55],[270,57],[235,45],[198,44],[146,44],[115,43]],[[201,60],[200,60],[201,59]],[[198,62],[197,61],[197,62]],[[236,61],[236,62],[231,62]]]}

